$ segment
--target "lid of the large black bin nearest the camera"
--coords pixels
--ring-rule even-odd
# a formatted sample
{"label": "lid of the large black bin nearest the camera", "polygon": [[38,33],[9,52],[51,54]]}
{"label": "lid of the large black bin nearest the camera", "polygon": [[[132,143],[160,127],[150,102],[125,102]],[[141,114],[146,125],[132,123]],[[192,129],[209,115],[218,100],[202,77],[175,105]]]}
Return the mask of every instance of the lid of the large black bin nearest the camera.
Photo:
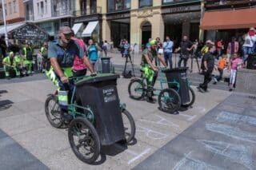
{"label": "lid of the large black bin nearest the camera", "polygon": [[79,85],[84,85],[87,83],[94,83],[99,81],[116,80],[118,77],[119,75],[114,73],[98,73],[97,76],[95,77],[86,76],[81,80],[75,82],[74,85],[79,86]]}

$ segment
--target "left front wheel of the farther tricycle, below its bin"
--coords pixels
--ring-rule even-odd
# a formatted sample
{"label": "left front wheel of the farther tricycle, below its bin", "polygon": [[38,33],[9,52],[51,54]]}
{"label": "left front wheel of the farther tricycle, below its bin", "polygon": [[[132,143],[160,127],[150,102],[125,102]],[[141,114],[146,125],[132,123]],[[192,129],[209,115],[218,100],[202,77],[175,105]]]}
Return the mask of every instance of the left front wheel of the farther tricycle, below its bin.
{"label": "left front wheel of the farther tricycle, below its bin", "polygon": [[174,89],[163,89],[158,96],[158,105],[163,112],[174,113],[181,106],[181,98]]}

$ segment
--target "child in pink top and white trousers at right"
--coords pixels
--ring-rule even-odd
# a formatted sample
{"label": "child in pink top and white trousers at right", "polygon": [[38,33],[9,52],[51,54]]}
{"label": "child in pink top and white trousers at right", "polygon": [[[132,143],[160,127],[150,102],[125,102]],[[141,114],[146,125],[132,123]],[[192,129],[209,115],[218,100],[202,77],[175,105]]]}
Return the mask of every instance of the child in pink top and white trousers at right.
{"label": "child in pink top and white trousers at right", "polygon": [[234,53],[230,60],[230,91],[234,89],[234,82],[237,75],[237,70],[242,66],[242,59],[238,56],[238,53]]}

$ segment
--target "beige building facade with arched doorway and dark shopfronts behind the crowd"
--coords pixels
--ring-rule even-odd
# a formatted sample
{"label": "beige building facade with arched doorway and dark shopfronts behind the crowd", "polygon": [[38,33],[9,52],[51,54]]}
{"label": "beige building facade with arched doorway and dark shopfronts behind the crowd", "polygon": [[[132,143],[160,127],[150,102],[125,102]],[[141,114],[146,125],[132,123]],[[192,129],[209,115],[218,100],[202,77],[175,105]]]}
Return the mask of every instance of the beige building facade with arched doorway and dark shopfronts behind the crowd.
{"label": "beige building facade with arched doorway and dark shopfronts behind the crowd", "polygon": [[[100,41],[114,42],[116,47],[122,39],[139,50],[149,38],[164,41],[169,35],[176,44],[183,35],[191,41],[199,38],[201,0],[97,0],[96,6],[91,2],[76,2],[86,12],[80,11],[74,24],[83,22],[86,28],[89,22],[98,21]],[[92,7],[97,9],[94,14],[90,13]]]}

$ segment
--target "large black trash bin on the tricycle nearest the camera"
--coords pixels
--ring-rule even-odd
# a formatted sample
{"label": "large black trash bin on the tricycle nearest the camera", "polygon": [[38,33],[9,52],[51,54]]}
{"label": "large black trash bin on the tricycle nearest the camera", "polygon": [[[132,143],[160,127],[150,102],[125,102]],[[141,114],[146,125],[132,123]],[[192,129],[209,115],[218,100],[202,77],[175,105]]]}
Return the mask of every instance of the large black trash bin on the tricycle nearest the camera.
{"label": "large black trash bin on the tricycle nearest the camera", "polygon": [[100,73],[78,81],[77,97],[84,107],[90,106],[94,113],[95,128],[102,145],[125,140],[122,111],[119,106],[117,78],[112,73]]}

